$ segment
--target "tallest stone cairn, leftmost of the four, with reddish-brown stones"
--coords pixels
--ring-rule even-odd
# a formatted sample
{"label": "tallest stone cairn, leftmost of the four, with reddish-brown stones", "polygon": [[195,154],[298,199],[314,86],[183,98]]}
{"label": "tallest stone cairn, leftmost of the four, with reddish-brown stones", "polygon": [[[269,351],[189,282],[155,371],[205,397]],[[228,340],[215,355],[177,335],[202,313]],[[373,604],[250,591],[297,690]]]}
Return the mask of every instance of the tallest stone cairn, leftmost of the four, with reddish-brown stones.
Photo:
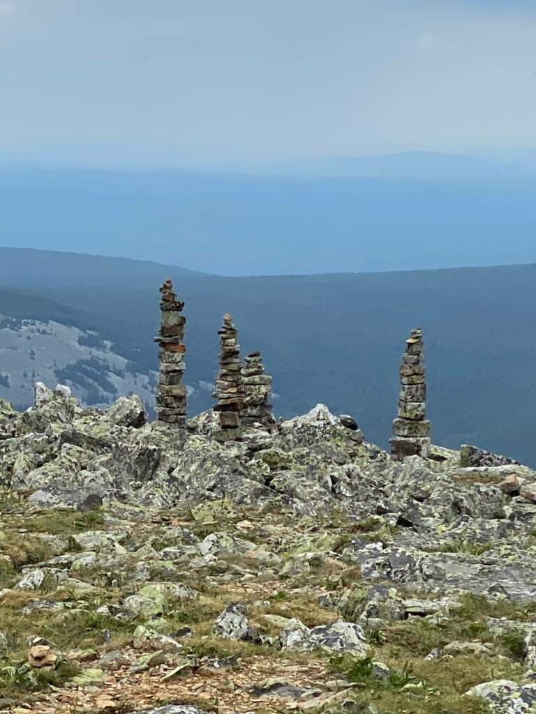
{"label": "tallest stone cairn, leftmost of the four, with reddish-brown stones", "polygon": [[173,283],[169,278],[160,288],[161,321],[160,331],[154,341],[159,343],[159,384],[157,389],[158,420],[174,424],[178,428],[186,427],[186,387],[182,383],[182,373],[186,367],[184,353],[186,346],[184,325],[186,318],[181,315],[184,303],[177,300]]}

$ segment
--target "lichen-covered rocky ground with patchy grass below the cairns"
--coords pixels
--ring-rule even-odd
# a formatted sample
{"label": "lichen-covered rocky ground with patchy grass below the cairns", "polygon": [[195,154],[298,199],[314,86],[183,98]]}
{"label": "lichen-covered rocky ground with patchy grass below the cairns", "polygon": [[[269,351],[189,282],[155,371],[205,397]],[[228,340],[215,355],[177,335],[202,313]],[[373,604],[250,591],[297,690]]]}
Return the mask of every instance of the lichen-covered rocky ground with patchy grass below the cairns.
{"label": "lichen-covered rocky ground with patchy grass below the cairns", "polygon": [[0,401],[0,711],[536,711],[534,471],[216,426]]}

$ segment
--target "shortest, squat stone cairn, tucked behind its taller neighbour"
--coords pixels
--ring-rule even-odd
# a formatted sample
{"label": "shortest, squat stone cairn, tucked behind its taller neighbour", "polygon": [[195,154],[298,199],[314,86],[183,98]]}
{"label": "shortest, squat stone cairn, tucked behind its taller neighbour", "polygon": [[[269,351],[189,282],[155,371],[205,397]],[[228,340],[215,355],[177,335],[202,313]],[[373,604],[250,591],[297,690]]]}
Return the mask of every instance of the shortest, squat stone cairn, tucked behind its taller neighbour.
{"label": "shortest, squat stone cairn, tucked behind its taller neighbour", "polygon": [[240,419],[244,425],[262,424],[271,428],[275,424],[272,405],[269,403],[272,394],[272,377],[264,374],[264,363],[260,352],[251,352],[245,358],[242,367],[242,389],[244,407]]}

